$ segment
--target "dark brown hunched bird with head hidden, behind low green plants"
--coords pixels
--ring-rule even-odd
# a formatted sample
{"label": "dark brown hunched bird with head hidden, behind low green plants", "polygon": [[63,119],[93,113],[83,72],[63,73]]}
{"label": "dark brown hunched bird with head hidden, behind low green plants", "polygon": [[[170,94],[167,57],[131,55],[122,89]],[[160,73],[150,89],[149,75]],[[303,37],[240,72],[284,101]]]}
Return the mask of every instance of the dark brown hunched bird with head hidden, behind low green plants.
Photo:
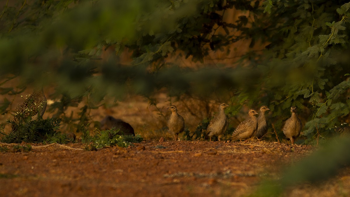
{"label": "dark brown hunched bird with head hidden, behind low green plants", "polygon": [[135,135],[134,128],[129,123],[116,119],[113,116],[106,116],[100,124],[102,130],[115,128],[123,132],[123,135]]}

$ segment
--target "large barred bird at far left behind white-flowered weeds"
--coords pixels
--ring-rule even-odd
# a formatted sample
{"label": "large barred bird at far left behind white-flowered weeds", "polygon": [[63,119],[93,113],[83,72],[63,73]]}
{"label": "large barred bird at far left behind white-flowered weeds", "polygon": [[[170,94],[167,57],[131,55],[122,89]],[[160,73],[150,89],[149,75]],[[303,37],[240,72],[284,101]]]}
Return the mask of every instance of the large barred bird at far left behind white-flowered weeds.
{"label": "large barred bird at far left behind white-flowered weeds", "polygon": [[16,108],[17,112],[15,113],[14,121],[17,122],[19,117],[27,118],[31,116],[33,120],[43,117],[46,106],[47,100],[43,88],[34,88],[33,93]]}

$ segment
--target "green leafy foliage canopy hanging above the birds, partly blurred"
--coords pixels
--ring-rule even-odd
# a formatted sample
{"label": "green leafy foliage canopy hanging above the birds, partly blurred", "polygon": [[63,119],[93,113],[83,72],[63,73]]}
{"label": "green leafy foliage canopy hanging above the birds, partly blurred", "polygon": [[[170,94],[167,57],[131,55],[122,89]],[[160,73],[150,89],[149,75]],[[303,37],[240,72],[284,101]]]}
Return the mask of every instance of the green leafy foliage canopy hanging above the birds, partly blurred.
{"label": "green leafy foliage canopy hanging above the birds, partly blurred", "polygon": [[[0,15],[0,75],[40,79],[60,87],[56,95],[96,101],[106,94],[149,96],[164,87],[170,96],[229,92],[231,115],[237,106],[267,104],[276,128],[295,105],[312,140],[349,114],[349,6],[324,0],[7,1]],[[229,9],[242,13],[238,20],[224,20]],[[230,53],[226,46],[241,40],[251,49],[235,67],[182,69],[163,61],[180,52],[202,62],[210,51]],[[256,51],[261,43],[266,47]],[[101,61],[109,48],[116,55]],[[126,50],[133,62],[121,65]]]}

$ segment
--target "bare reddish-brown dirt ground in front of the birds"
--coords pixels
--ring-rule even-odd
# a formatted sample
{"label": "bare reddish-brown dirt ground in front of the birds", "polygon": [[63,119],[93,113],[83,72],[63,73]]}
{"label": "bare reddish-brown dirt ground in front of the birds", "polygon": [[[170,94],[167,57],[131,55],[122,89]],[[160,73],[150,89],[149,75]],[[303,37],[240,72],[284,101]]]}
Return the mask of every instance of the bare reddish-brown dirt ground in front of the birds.
{"label": "bare reddish-brown dirt ground in front of the birds", "polygon": [[[0,153],[0,196],[246,196],[315,149],[256,140],[143,141],[98,151],[79,143],[31,145],[29,152]],[[345,169],[322,183],[327,187],[305,184],[285,195],[347,195],[349,177]]]}

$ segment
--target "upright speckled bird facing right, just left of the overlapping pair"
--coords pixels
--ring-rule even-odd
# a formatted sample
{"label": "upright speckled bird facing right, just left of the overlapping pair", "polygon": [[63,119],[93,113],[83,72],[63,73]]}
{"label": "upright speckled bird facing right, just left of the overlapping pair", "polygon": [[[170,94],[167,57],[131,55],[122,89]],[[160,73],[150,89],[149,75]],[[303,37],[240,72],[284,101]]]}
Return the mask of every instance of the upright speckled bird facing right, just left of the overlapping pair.
{"label": "upright speckled bird facing right, just left of the overlapping pair", "polygon": [[229,122],[225,114],[226,107],[229,107],[229,105],[222,103],[219,107],[219,114],[213,118],[208,125],[207,131],[210,141],[212,136],[218,136],[218,140],[220,141],[221,135],[226,132],[229,126]]}

